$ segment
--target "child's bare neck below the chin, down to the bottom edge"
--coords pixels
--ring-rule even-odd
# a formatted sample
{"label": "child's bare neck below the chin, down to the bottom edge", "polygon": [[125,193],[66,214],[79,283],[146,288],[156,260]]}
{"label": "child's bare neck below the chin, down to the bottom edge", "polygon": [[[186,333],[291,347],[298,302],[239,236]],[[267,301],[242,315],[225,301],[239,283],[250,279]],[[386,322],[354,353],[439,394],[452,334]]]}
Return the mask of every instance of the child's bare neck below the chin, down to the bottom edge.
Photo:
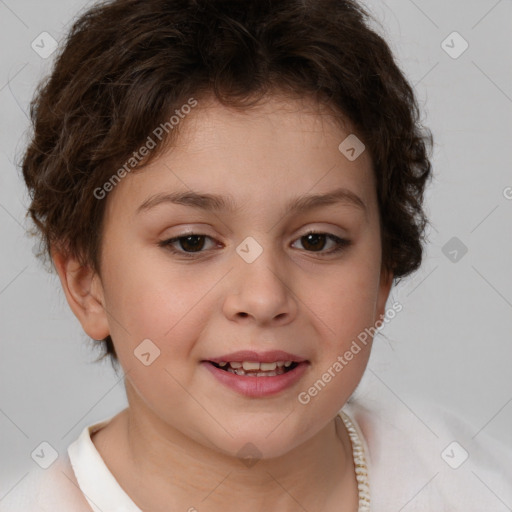
{"label": "child's bare neck below the chin, down to the bottom edge", "polygon": [[142,510],[357,510],[341,419],[286,454],[250,465],[172,429],[147,408],[135,410],[131,404],[116,417],[117,451],[125,459],[111,471]]}

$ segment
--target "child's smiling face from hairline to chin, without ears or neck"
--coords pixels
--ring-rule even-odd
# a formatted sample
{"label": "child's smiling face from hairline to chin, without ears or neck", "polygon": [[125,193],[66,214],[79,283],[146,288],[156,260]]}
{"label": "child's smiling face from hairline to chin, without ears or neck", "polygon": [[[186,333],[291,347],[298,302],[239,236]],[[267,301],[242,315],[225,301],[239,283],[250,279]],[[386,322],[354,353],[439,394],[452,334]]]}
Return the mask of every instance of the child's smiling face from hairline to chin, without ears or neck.
{"label": "child's smiling face from hairline to chin, without ears or neck", "polygon": [[307,100],[203,101],[182,123],[107,199],[97,279],[131,414],[224,454],[283,455],[350,397],[371,342],[343,356],[384,313],[371,158],[347,159],[350,129]]}

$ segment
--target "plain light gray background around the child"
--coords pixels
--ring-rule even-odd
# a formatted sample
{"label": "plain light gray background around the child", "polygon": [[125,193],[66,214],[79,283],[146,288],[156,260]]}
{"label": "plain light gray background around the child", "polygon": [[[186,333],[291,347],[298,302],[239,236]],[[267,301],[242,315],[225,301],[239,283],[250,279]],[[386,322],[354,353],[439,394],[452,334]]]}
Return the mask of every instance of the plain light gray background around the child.
{"label": "plain light gray background around the child", "polygon": [[[41,441],[62,453],[85,425],[126,406],[120,376],[92,362],[97,353],[57,277],[33,255],[14,165],[34,87],[51,64],[31,43],[43,31],[62,38],[84,5],[0,0],[0,499],[34,466]],[[426,423],[415,397],[445,404],[475,434],[512,447],[512,2],[367,6],[416,88],[436,145],[425,260],[392,291],[388,304],[397,300],[403,311],[384,328],[387,338],[376,338],[365,382]],[[441,46],[454,31],[469,44],[458,58]],[[461,48],[453,37],[448,44]]]}

